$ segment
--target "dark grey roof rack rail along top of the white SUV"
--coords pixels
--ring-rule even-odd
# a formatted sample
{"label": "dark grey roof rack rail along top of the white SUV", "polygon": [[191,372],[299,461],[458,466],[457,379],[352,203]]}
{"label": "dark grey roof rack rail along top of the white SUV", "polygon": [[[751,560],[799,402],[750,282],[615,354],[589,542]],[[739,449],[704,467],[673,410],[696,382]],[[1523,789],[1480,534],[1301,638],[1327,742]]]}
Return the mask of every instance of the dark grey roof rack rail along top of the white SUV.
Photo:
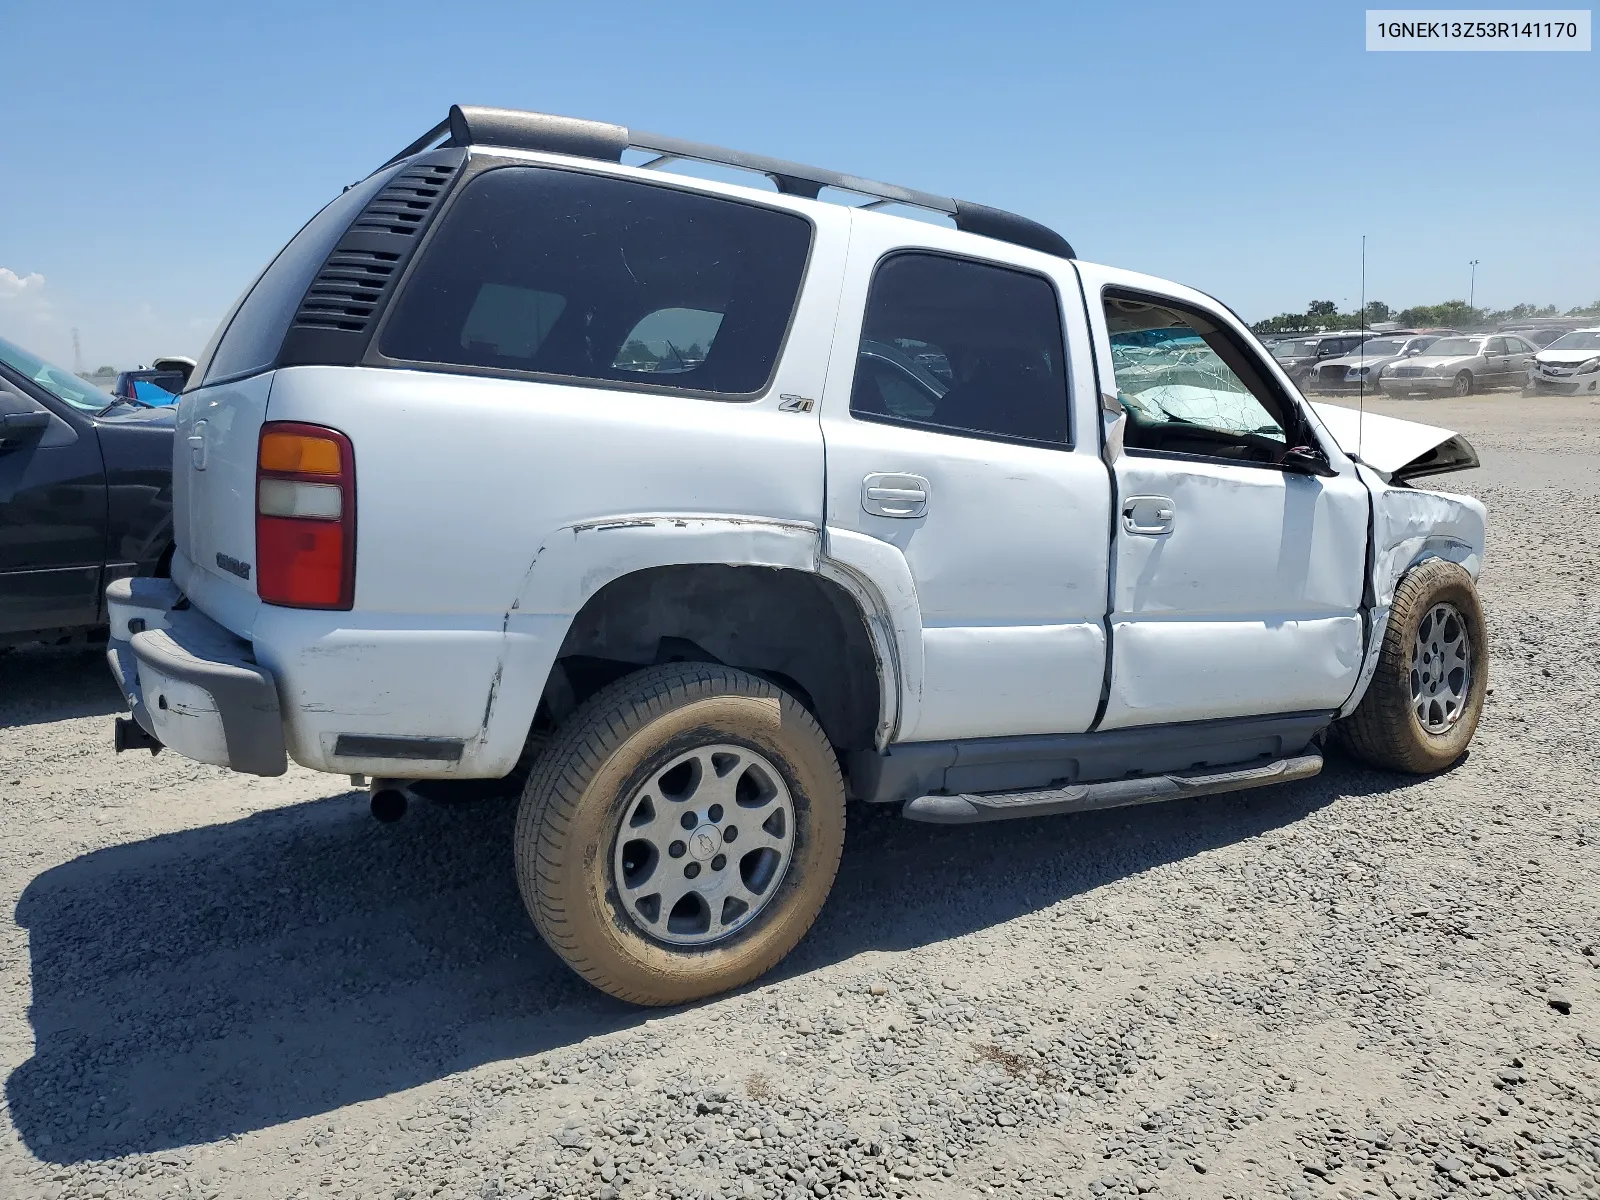
{"label": "dark grey roof rack rail along top of the white SUV", "polygon": [[803,195],[816,200],[824,187],[837,187],[845,192],[872,197],[861,208],[883,208],[885,205],[925,208],[952,218],[955,227],[968,234],[981,234],[982,237],[1027,246],[1029,250],[1038,250],[1056,258],[1077,258],[1067,240],[1054,229],[1000,208],[974,205],[970,200],[954,200],[946,195],[934,195],[933,192],[918,192],[912,187],[883,184],[875,179],[861,179],[859,176],[840,174],[838,171],[824,171],[819,166],[803,166],[784,162],[782,158],[768,158],[762,154],[728,150],[720,146],[683,141],[682,138],[642,133],[622,125],[581,120],[578,117],[555,117],[547,112],[482,109],[453,104],[450,106],[450,117],[446,120],[406,146],[384,163],[384,166],[390,166],[402,158],[410,158],[413,154],[419,154],[435,142],[443,146],[504,146],[517,150],[546,150],[613,163],[622,162],[622,150],[635,149],[654,154],[654,158],[640,163],[645,168],[654,170],[683,160],[736,166],[765,174],[786,195]]}

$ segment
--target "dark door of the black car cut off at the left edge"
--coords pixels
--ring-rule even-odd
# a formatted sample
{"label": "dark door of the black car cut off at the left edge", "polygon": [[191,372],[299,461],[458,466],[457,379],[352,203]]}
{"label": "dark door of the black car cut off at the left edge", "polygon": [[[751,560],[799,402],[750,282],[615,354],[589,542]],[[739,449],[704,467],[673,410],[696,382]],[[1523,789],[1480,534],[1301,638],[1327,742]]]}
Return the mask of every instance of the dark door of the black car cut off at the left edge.
{"label": "dark door of the black car cut off at the left edge", "polygon": [[0,371],[0,638],[94,624],[104,558],[106,478],[93,424],[67,419],[30,381]]}

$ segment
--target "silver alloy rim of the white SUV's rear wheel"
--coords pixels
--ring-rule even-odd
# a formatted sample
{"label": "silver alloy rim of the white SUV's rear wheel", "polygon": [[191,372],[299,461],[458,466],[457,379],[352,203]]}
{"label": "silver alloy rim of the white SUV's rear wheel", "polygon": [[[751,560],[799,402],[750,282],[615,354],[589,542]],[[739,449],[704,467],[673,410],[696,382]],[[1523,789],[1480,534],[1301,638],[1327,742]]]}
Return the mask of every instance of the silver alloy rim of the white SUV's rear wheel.
{"label": "silver alloy rim of the white SUV's rear wheel", "polygon": [[749,746],[699,746],[622,806],[611,882],[653,941],[709,946],[771,904],[794,845],[794,800],[773,762]]}

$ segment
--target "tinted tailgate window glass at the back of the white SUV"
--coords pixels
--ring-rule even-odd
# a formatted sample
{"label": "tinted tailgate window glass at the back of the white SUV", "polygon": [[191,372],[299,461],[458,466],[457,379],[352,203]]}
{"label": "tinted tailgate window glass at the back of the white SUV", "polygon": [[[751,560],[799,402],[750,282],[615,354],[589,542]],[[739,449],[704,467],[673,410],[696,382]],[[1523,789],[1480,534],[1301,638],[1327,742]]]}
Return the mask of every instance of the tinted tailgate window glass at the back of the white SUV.
{"label": "tinted tailgate window glass at the back of the white SUV", "polygon": [[[272,266],[261,272],[261,278],[234,312],[216,349],[210,352],[210,362],[202,363],[205,382],[237,379],[272,366],[294,310],[328,253],[344,237],[355,214],[398,170],[398,165],[392,166],[347,189],[278,251]],[[198,374],[197,370],[195,376]]]}

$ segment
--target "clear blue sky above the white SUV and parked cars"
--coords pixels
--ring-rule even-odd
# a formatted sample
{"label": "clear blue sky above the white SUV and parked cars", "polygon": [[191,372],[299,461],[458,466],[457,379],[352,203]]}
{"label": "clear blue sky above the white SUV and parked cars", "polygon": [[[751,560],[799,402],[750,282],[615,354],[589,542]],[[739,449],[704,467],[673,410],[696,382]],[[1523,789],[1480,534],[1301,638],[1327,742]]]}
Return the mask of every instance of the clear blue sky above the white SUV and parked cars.
{"label": "clear blue sky above the white SUV and parked cars", "polygon": [[1370,54],[1352,3],[0,0],[0,336],[194,354],[451,102],[1011,208],[1246,318],[1600,298],[1600,61]]}

